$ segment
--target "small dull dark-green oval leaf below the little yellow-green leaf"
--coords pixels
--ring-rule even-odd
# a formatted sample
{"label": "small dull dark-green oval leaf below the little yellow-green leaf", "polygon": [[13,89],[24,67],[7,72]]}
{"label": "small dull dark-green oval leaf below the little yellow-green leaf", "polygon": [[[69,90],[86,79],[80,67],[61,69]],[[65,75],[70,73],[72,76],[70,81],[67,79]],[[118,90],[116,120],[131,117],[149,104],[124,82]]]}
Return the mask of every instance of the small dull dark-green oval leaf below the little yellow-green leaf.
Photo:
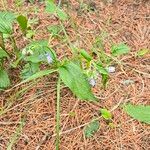
{"label": "small dull dark-green oval leaf below the little yellow-green leaf", "polygon": [[98,120],[92,121],[88,126],[85,127],[84,135],[86,138],[92,137],[100,128]]}

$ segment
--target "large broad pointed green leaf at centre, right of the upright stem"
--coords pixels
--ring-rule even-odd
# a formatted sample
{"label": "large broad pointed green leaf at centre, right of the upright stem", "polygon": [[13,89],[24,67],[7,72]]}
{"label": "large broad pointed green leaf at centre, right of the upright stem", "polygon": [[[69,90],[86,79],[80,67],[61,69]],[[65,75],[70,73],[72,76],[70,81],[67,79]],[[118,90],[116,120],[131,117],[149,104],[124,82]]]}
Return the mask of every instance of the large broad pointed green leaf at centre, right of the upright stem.
{"label": "large broad pointed green leaf at centre, right of the upright stem", "polygon": [[91,92],[91,87],[86,75],[77,64],[68,62],[59,67],[58,71],[62,81],[78,98],[82,100],[96,101],[96,98]]}

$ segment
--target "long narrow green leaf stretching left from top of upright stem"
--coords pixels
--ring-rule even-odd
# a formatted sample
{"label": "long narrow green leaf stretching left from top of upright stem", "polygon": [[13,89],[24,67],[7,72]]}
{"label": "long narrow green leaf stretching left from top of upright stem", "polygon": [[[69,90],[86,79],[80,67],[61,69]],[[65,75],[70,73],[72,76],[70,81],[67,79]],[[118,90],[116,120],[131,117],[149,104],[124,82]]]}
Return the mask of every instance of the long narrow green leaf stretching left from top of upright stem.
{"label": "long narrow green leaf stretching left from top of upright stem", "polygon": [[20,84],[29,82],[29,81],[31,81],[31,80],[35,80],[35,79],[37,79],[37,78],[41,78],[41,77],[43,77],[43,76],[49,75],[49,74],[51,74],[51,73],[53,73],[53,72],[56,72],[56,71],[57,71],[57,70],[53,70],[53,69],[51,69],[51,70],[42,70],[42,71],[39,71],[39,72],[33,74],[32,76],[30,76],[29,78],[23,80]]}

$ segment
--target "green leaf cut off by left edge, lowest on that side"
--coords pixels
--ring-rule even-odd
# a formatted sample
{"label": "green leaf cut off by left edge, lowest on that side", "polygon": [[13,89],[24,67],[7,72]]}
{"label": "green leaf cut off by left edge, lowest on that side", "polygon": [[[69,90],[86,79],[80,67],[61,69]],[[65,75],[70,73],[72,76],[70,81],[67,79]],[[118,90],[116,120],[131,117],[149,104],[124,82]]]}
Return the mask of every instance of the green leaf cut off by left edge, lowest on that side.
{"label": "green leaf cut off by left edge, lowest on that side", "polygon": [[0,88],[7,88],[10,86],[10,80],[5,70],[0,70]]}

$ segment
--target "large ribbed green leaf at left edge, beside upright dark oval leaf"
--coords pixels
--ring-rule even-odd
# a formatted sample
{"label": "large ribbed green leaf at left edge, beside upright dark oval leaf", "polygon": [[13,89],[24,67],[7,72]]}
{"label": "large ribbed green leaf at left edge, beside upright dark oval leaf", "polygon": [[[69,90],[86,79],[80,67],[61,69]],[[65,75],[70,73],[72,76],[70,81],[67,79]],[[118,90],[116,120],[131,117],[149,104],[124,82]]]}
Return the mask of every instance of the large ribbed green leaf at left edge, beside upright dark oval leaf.
{"label": "large ribbed green leaf at left edge, beside upright dark oval leaf", "polygon": [[12,23],[15,15],[11,12],[0,12],[0,32],[5,34],[12,33]]}

